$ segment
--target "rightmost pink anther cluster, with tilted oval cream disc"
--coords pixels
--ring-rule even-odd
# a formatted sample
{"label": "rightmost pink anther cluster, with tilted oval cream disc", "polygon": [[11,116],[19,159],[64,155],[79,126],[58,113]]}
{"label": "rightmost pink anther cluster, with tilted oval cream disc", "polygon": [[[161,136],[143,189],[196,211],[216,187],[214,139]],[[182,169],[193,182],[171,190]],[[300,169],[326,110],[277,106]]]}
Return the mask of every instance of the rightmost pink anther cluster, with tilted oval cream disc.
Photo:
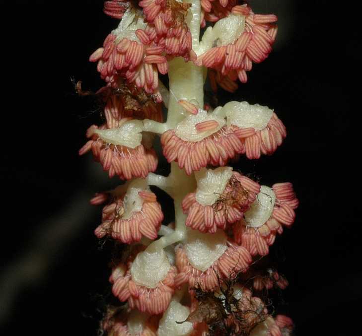
{"label": "rightmost pink anther cluster, with tilted oval cream disc", "polygon": [[283,225],[289,227],[294,222],[298,204],[291,183],[261,186],[250,210],[233,227],[235,241],[252,256],[267,255],[277,233],[283,233]]}

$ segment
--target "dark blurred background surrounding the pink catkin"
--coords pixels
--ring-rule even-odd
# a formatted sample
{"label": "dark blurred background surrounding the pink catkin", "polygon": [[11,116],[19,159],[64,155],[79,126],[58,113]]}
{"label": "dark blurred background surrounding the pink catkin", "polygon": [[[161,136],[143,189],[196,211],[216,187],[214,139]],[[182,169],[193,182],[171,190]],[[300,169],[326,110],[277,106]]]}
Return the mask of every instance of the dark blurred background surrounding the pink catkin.
{"label": "dark blurred background surrounding the pink catkin", "polygon": [[[292,317],[296,335],[350,335],[362,299],[354,11],[331,1],[250,2],[278,15],[278,42],[247,84],[234,94],[220,89],[219,103],[268,105],[288,130],[273,156],[236,165],[262,184],[292,182],[300,200],[270,253],[290,282],[276,310]],[[77,155],[100,116],[71,82],[103,85],[88,57],[117,20],[102,6],[1,1],[1,335],[94,336],[110,299],[110,246],[101,249],[93,235],[101,208],[88,200],[119,180],[108,180],[90,154]],[[158,172],[166,171],[161,161]]]}

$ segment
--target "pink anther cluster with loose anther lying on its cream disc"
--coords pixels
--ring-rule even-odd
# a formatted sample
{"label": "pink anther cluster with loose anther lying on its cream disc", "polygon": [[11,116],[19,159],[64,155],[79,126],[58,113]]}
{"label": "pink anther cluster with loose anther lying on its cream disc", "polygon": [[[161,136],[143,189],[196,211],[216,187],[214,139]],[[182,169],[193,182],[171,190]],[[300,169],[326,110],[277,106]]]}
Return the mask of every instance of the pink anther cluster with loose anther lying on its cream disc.
{"label": "pink anther cluster with loose anther lying on its cream disc", "polygon": [[163,133],[161,144],[167,161],[177,161],[188,175],[208,164],[224,166],[244,152],[242,141],[226,127],[225,119],[204,110]]}

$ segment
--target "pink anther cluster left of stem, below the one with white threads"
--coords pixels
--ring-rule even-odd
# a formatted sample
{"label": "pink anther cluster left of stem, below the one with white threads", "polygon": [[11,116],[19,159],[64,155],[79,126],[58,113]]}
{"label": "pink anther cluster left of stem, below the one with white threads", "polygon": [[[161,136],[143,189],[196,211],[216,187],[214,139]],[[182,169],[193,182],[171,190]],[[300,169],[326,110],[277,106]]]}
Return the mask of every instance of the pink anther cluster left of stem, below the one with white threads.
{"label": "pink anther cluster left of stem, below the one with white threads", "polygon": [[98,238],[110,236],[122,243],[138,242],[144,236],[156,239],[163,213],[160,204],[148,187],[138,181],[128,188],[127,193],[114,198],[104,206],[102,223],[95,230]]}

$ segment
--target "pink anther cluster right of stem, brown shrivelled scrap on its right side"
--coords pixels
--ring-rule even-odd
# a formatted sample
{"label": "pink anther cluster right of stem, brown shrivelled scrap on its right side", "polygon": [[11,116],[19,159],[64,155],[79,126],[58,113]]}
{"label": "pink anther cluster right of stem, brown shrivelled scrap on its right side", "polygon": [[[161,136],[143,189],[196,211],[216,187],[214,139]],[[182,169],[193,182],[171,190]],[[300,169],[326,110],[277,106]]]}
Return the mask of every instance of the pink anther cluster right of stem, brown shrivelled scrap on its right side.
{"label": "pink anther cluster right of stem, brown shrivelled scrap on its right side", "polygon": [[182,209],[186,226],[200,232],[215,233],[243,217],[260,192],[258,183],[231,167],[203,169],[195,174],[197,190],[187,194]]}

